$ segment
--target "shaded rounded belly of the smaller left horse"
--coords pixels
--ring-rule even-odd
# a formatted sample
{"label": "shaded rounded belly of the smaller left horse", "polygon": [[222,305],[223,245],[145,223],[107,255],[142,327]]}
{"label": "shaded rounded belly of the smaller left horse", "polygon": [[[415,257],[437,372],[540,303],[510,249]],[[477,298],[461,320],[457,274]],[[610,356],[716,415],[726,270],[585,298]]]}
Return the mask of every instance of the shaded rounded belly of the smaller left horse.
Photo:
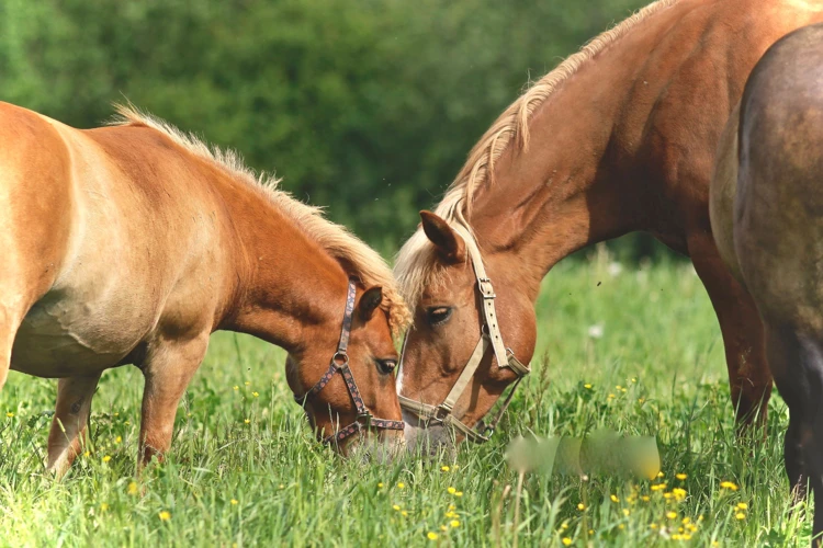
{"label": "shaded rounded belly of the smaller left horse", "polygon": [[54,290],[31,308],[14,339],[12,369],[38,377],[100,372],[119,365],[151,329],[134,300],[83,293]]}

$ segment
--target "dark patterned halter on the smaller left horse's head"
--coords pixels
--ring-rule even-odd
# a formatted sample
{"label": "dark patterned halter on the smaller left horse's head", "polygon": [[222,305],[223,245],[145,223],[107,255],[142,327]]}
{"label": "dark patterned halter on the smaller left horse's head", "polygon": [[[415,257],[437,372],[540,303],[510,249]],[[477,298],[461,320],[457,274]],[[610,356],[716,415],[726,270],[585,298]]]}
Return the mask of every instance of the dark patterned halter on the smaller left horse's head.
{"label": "dark patterned halter on the smaller left horse's head", "polygon": [[357,410],[357,418],[354,422],[348,426],[338,430],[336,433],[327,436],[324,444],[339,444],[350,436],[353,436],[361,430],[381,429],[381,430],[403,430],[405,424],[403,421],[390,421],[387,419],[376,419],[371,414],[369,409],[363,403],[363,398],[360,396],[358,385],[354,383],[354,376],[351,374],[349,368],[349,355],[347,349],[349,346],[349,335],[351,334],[351,318],[354,313],[354,296],[357,295],[357,278],[349,278],[349,293],[346,297],[346,310],[343,312],[342,329],[340,330],[340,342],[337,344],[337,352],[331,356],[331,363],[329,364],[328,370],[320,377],[305,395],[295,396],[294,401],[305,407],[306,400],[311,396],[316,395],[329,384],[335,374],[340,373],[343,380],[346,381],[346,388],[349,390],[351,400],[354,402],[354,409]]}

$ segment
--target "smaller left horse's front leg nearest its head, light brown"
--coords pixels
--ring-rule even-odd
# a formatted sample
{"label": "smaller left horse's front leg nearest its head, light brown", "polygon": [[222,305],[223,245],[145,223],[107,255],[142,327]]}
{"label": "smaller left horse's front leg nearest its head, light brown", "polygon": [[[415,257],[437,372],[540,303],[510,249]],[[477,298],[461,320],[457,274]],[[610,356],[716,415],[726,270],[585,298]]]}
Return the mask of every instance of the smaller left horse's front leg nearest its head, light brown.
{"label": "smaller left horse's front leg nearest its head, light brown", "polygon": [[171,445],[180,398],[198,370],[208,346],[208,333],[187,341],[164,341],[149,350],[143,364],[139,465],[162,459]]}

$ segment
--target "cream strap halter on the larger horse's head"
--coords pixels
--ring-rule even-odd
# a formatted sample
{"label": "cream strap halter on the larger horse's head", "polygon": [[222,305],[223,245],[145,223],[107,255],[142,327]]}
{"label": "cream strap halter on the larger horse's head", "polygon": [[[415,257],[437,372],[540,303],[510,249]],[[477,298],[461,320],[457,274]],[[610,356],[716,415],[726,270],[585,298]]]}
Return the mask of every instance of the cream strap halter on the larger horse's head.
{"label": "cream strap halter on the larger horse's head", "polygon": [[[526,377],[531,369],[528,365],[521,364],[515,353],[507,349],[503,344],[503,335],[500,334],[500,327],[497,324],[497,312],[495,311],[495,292],[492,286],[492,281],[486,275],[486,269],[483,266],[483,256],[481,255],[477,242],[474,237],[460,225],[452,225],[452,229],[463,238],[465,241],[466,249],[469,250],[469,256],[472,260],[472,266],[474,269],[474,275],[477,279],[477,292],[483,300],[483,323],[481,327],[481,336],[477,344],[474,346],[469,362],[463,367],[463,373],[458,377],[456,383],[452,386],[451,391],[446,397],[442,403],[439,406],[431,406],[424,403],[422,401],[413,400],[404,396],[397,396],[401,400],[401,407],[406,411],[410,411],[416,414],[425,423],[439,423],[442,425],[449,425],[454,430],[463,434],[466,439],[475,443],[488,442],[491,435],[494,433],[497,424],[503,419],[503,414],[511,403],[511,398],[515,395],[515,390],[520,381]],[[406,339],[408,340],[408,339]],[[480,431],[469,427],[464,422],[452,414],[452,409],[458,402],[462,393],[465,391],[469,383],[474,376],[477,367],[483,361],[483,356],[486,355],[486,351],[492,346],[497,358],[497,367],[509,368],[517,375],[511,390],[503,402],[503,407],[495,415],[495,418],[485,424]],[[406,343],[403,343],[403,352],[401,353],[401,367],[403,366],[403,357],[406,351]]]}

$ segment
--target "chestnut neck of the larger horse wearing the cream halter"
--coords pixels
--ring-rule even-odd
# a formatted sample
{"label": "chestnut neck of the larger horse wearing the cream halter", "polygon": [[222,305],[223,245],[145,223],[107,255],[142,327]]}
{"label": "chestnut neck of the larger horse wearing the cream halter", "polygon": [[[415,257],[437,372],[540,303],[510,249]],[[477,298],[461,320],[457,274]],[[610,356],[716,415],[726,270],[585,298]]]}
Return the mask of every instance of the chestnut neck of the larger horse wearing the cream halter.
{"label": "chestnut neck of the larger horse wearing the cream halter", "polygon": [[528,123],[530,146],[512,141],[472,197],[469,220],[489,263],[505,264],[532,300],[543,276],[574,251],[654,230],[658,207],[638,169],[649,112],[634,124],[623,116],[628,105],[645,109],[632,102],[641,64],[630,59],[659,39],[670,18],[619,38],[560,83]]}

